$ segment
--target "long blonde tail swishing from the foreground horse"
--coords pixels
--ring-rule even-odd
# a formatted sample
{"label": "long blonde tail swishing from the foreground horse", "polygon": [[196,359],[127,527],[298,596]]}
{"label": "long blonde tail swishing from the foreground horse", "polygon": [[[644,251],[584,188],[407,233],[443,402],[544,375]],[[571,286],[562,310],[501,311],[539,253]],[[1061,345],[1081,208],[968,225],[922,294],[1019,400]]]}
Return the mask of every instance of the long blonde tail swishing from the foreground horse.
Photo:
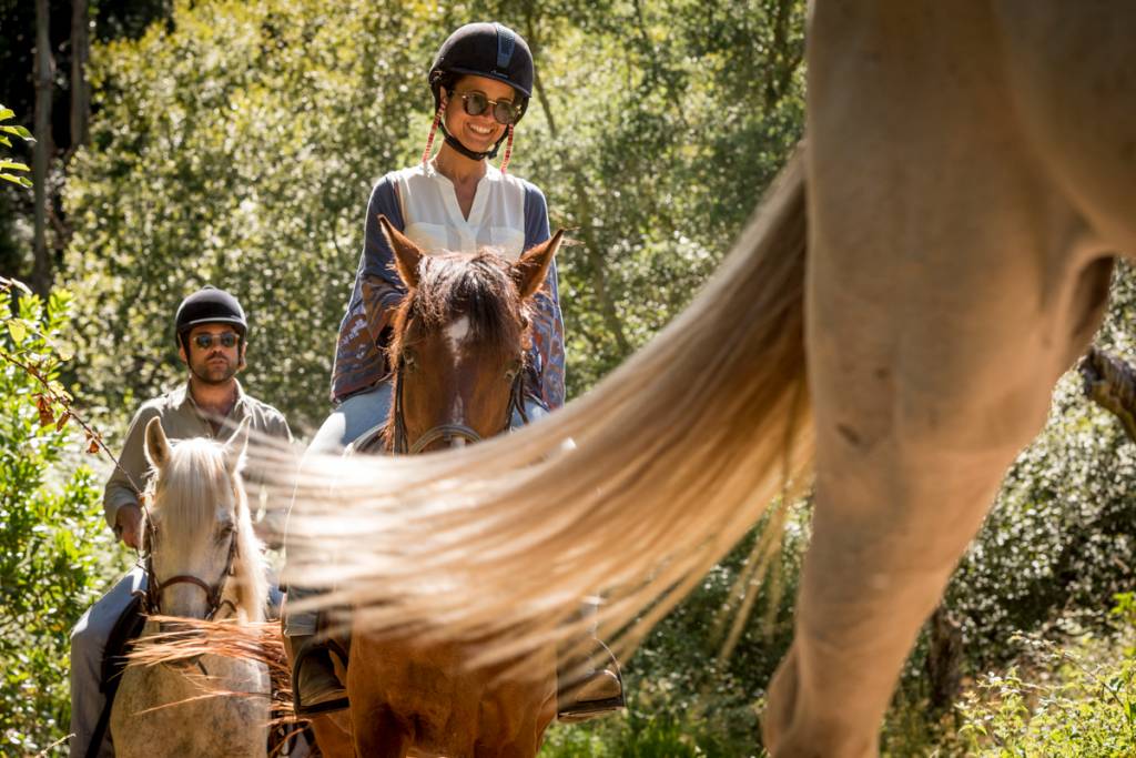
{"label": "long blonde tail swishing from the foreground horse", "polygon": [[690,308],[591,393],[458,453],[315,466],[293,509],[314,557],[290,575],[339,588],[323,602],[357,627],[493,634],[494,658],[578,636],[603,593],[601,633],[635,644],[811,467],[801,153]]}

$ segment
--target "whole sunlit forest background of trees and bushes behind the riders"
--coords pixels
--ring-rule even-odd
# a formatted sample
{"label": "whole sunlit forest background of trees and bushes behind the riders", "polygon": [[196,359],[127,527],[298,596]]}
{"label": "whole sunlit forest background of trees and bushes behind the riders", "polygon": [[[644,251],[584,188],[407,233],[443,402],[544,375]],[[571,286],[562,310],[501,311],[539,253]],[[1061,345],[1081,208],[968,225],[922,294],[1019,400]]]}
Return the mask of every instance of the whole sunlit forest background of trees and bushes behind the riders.
{"label": "whole sunlit forest background of trees and bushes behind the riders", "polygon": [[[0,276],[36,292],[6,288],[0,330],[0,753],[65,753],[67,633],[133,560],[61,393],[117,451],[183,380],[173,314],[211,283],[250,316],[245,388],[310,434],[369,190],[418,160],[429,61],[477,19],[535,55],[510,170],[576,240],[559,266],[577,397],[698,292],[802,138],[803,2],[0,0],[0,103],[37,138],[0,147],[35,178],[0,182]],[[1127,267],[1113,295],[1097,342],[1130,355]],[[885,753],[1136,750],[1134,464],[1070,373],[908,663]],[[715,618],[750,544],[625,661],[627,714],[557,727],[542,755],[759,755],[809,515],[779,580],[747,589],[732,657]]]}

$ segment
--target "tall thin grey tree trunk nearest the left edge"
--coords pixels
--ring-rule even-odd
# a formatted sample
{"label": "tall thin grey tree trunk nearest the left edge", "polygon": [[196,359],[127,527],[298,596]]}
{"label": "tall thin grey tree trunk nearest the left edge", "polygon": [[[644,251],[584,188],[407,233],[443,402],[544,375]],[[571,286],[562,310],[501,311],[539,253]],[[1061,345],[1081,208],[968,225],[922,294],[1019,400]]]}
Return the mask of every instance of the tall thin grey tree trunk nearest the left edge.
{"label": "tall thin grey tree trunk nearest the left edge", "polygon": [[32,160],[35,182],[35,263],[32,289],[47,297],[51,289],[51,257],[48,251],[48,163],[51,159],[51,82],[56,64],[51,57],[48,0],[35,0],[35,149]]}

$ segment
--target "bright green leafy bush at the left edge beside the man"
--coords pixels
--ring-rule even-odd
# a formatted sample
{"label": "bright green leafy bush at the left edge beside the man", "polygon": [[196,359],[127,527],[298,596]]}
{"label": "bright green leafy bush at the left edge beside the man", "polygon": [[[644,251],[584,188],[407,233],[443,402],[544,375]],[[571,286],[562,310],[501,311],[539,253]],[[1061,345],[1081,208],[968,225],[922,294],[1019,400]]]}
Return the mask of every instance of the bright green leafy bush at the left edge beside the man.
{"label": "bright green leafy bush at the left edge beside the man", "polygon": [[28,372],[61,391],[70,317],[62,290],[45,307],[24,294],[0,328],[0,752],[35,753],[66,734],[68,632],[107,564],[99,484],[66,463],[83,438]]}

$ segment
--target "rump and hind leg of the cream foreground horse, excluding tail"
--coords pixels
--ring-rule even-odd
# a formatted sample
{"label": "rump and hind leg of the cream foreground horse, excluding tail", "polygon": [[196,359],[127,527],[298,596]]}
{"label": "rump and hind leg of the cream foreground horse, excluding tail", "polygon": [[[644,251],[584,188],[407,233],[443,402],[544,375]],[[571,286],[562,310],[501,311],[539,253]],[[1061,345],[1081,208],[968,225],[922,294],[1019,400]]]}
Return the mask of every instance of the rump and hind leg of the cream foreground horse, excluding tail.
{"label": "rump and hind leg of the cream foreground horse, excluding tail", "polygon": [[1100,323],[1110,265],[1042,181],[999,49],[980,3],[813,16],[817,506],[777,756],[876,752],[919,626]]}

